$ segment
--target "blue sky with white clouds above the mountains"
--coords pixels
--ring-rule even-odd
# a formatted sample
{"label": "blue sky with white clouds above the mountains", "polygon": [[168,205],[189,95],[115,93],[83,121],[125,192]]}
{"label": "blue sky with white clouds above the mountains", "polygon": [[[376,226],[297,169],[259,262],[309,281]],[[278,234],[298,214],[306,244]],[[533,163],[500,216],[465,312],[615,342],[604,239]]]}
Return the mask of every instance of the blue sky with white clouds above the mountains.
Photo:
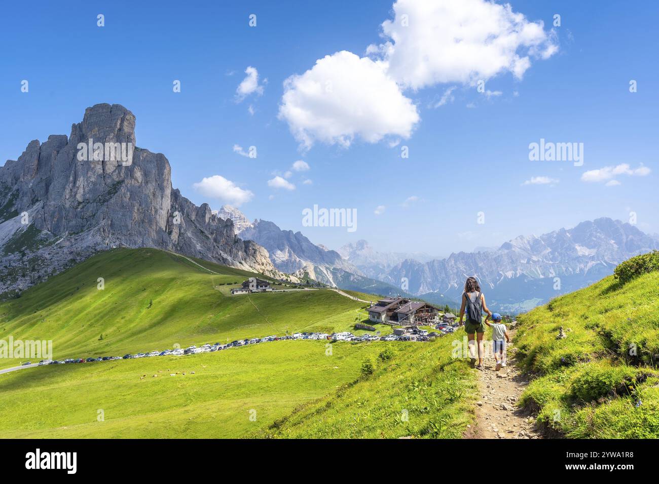
{"label": "blue sky with white clouds above the mountains", "polygon": [[[165,154],[173,186],[190,200],[214,209],[243,200],[239,208],[250,219],[301,230],[329,248],[365,238],[378,250],[447,255],[597,217],[627,221],[631,211],[639,229],[659,232],[653,33],[659,4],[511,1],[511,11],[525,16],[523,25],[544,22],[541,35],[534,30],[537,49],[524,43],[513,49],[530,61],[515,76],[514,68],[497,70],[490,55],[464,59],[432,38],[421,44],[430,67],[422,56],[408,64],[418,49],[405,38],[389,57],[378,49],[367,56],[369,45],[386,42],[387,19],[395,33],[420,32],[418,12],[409,18],[411,30],[400,30],[401,14],[415,11],[410,1],[398,10],[391,1],[9,3],[0,17],[0,157],[16,159],[35,138],[69,134],[90,105],[120,103],[136,115],[138,146]],[[98,14],[105,16],[103,27]],[[250,14],[256,27],[248,25]],[[554,14],[560,26],[553,26]],[[435,20],[451,22],[447,15]],[[476,30],[482,20],[465,21]],[[558,47],[551,55],[550,45]],[[292,88],[285,80],[339,51],[356,57],[331,58],[345,68],[332,70],[335,110],[322,99],[295,99],[304,76]],[[368,72],[382,62],[389,67],[371,79],[344,60]],[[396,62],[405,66],[396,70]],[[240,100],[247,67],[258,71],[259,87]],[[430,77],[419,74],[428,70]],[[308,80],[319,80],[314,72]],[[481,78],[490,95],[478,92]],[[22,80],[29,82],[27,93]],[[180,93],[172,90],[174,80],[181,81]],[[630,80],[637,81],[635,93]],[[291,89],[291,109],[310,109],[310,121],[281,115]],[[414,113],[416,122],[405,121]],[[345,126],[357,128],[341,132]],[[295,128],[311,143],[305,146]],[[540,138],[583,143],[583,166],[530,161],[529,144]],[[256,146],[257,157],[240,155],[235,145]],[[403,146],[409,158],[401,157]],[[298,160],[308,171],[291,169]],[[195,188],[215,175],[233,188]],[[295,189],[269,186],[275,176]],[[314,204],[357,209],[357,230],[302,227],[302,210]],[[481,211],[484,224],[477,223]]]}

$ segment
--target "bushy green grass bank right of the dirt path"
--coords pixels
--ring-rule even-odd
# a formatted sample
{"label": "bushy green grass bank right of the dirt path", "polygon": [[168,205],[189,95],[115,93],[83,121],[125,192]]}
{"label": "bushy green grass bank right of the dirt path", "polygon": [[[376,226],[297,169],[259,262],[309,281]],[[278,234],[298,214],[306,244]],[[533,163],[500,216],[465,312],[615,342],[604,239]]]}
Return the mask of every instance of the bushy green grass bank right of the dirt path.
{"label": "bushy green grass bank right of the dirt path", "polygon": [[659,272],[607,277],[520,316],[520,359],[538,375],[522,404],[567,437],[658,438],[658,290]]}

